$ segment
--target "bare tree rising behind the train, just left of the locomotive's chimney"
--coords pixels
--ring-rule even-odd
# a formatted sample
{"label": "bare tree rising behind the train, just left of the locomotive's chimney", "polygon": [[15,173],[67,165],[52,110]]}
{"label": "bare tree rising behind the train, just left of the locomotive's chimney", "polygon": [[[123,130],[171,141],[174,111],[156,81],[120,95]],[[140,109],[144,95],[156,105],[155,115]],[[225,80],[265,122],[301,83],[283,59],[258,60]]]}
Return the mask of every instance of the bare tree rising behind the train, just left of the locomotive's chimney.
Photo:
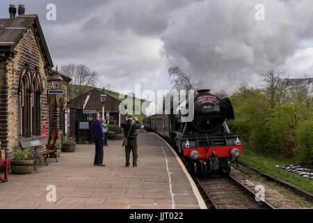
{"label": "bare tree rising behind the train, just left of the locomotive's chimney", "polygon": [[168,69],[168,75],[170,76],[172,82],[172,88],[177,91],[179,90],[197,91],[202,88],[202,84],[200,83],[199,79],[187,75],[177,66]]}

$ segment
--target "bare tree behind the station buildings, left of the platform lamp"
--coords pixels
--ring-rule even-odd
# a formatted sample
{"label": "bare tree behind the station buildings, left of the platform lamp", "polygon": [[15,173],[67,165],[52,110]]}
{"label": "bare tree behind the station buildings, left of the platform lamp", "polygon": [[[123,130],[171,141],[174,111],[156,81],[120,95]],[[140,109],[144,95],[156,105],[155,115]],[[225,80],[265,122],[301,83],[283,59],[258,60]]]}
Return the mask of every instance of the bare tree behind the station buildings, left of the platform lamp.
{"label": "bare tree behind the station buildings, left of the platform lamp", "polygon": [[70,84],[74,85],[74,88],[68,88],[68,98],[85,93],[88,86],[95,86],[97,80],[97,72],[84,64],[68,63],[61,66],[61,72],[69,76],[72,79]]}

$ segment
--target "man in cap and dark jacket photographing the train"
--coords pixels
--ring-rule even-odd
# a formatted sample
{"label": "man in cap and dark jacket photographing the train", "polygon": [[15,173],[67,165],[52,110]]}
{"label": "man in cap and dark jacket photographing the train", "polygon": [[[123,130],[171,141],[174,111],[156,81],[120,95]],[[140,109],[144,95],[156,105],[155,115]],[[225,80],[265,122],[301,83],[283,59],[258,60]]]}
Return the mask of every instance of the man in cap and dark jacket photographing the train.
{"label": "man in cap and dark jacket photographing the train", "polygon": [[127,115],[127,121],[123,122],[120,126],[124,128],[125,138],[127,138],[127,146],[125,146],[125,167],[129,167],[129,156],[131,151],[133,153],[133,167],[137,167],[137,129],[141,128],[141,123],[138,121],[138,118],[134,118],[133,115],[129,114]]}

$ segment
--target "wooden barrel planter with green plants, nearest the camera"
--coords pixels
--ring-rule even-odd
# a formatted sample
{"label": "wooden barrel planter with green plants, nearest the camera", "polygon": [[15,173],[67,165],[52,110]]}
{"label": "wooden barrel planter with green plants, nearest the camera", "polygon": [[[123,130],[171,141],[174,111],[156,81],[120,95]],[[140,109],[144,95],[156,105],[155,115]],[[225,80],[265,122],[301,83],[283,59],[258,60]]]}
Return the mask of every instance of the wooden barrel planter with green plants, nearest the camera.
{"label": "wooden barrel planter with green plants, nearest the camera", "polygon": [[31,174],[34,171],[35,154],[31,148],[17,149],[11,162],[12,174]]}

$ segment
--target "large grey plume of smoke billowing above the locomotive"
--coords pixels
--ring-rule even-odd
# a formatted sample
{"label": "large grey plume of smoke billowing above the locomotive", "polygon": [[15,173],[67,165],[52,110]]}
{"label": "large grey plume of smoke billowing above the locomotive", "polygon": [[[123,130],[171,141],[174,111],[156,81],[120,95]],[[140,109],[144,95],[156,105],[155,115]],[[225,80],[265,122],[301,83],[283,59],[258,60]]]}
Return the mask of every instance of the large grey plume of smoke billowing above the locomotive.
{"label": "large grey plume of smoke billowing above the locomotive", "polygon": [[[265,20],[255,20],[257,3]],[[161,39],[168,66],[179,66],[215,91],[259,84],[258,74],[278,68],[313,38],[309,0],[197,1],[172,13]],[[288,70],[287,70],[288,72]]]}

